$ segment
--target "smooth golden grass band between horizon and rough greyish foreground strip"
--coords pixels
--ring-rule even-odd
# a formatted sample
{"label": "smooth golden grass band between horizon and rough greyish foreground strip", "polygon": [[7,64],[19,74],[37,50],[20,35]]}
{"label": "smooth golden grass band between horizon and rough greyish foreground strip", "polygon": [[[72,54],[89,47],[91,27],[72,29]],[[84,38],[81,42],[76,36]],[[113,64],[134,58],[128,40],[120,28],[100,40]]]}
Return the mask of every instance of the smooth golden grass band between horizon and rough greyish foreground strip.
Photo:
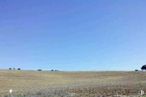
{"label": "smooth golden grass band between horizon and rough greyish foreground strip", "polygon": [[[38,72],[0,71],[0,93],[37,91],[46,88],[145,88],[146,72]],[[72,91],[70,89],[69,91]]]}

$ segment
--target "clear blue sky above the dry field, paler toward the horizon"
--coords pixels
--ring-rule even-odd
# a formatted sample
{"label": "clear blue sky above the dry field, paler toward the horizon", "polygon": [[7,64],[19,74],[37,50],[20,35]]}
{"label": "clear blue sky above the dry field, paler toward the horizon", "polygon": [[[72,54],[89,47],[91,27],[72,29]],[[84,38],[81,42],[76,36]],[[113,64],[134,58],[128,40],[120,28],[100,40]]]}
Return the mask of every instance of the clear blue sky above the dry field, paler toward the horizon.
{"label": "clear blue sky above the dry field, paler toward the horizon", "polygon": [[145,0],[0,0],[0,68],[134,70]]}

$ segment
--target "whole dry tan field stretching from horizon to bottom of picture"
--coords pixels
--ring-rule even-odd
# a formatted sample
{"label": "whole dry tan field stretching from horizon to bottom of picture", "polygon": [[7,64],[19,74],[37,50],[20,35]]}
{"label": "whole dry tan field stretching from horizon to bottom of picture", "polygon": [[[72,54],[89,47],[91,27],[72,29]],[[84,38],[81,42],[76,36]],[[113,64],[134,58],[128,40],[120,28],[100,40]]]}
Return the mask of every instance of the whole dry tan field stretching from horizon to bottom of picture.
{"label": "whole dry tan field stretching from horizon to bottom of picture", "polygon": [[0,96],[7,97],[9,89],[18,97],[138,97],[141,89],[146,92],[146,72],[1,70]]}

